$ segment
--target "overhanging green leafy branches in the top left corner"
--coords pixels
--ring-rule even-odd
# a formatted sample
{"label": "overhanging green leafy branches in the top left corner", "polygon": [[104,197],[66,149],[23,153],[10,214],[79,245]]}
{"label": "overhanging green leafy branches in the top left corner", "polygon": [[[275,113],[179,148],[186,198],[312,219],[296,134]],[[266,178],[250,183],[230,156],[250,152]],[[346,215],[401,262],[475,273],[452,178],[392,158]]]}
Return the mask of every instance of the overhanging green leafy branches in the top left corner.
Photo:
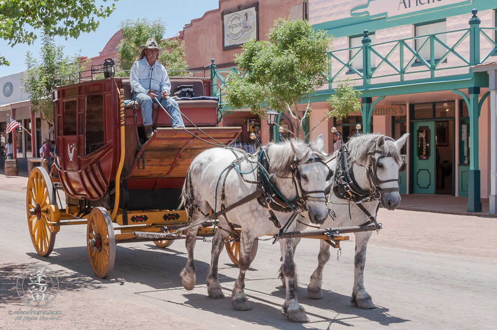
{"label": "overhanging green leafy branches in the top left corner", "polygon": [[[51,37],[78,38],[81,32],[95,31],[98,19],[114,11],[117,0],[103,0],[107,1],[112,4],[97,6],[96,0],[1,0],[0,38],[11,46],[33,43],[36,30]],[[4,56],[0,56],[1,65],[9,65]]]}

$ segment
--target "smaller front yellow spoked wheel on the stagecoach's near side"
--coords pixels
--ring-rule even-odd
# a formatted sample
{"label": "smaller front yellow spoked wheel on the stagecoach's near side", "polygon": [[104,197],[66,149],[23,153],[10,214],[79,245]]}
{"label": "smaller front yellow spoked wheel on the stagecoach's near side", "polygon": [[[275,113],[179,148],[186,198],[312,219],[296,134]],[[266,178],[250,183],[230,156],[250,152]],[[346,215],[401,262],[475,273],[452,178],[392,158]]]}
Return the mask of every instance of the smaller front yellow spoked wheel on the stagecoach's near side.
{"label": "smaller front yellow spoked wheel on the stagecoach's near side", "polygon": [[93,273],[99,278],[109,276],[116,258],[116,239],[110,215],[103,207],[95,207],[90,212],[86,242]]}

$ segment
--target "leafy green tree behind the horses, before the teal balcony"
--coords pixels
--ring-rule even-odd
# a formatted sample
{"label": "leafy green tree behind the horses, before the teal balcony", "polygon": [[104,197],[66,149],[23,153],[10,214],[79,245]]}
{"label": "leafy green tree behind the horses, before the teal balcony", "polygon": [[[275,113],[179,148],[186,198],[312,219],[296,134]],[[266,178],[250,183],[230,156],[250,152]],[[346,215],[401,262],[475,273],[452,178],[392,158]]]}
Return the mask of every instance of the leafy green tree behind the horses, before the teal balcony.
{"label": "leafy green tree behind the horses, before the teal balcony", "polygon": [[[311,95],[328,83],[327,50],[331,41],[326,31],[316,30],[306,20],[276,20],[267,40],[250,40],[236,55],[238,72],[227,78],[228,103],[233,108],[247,106],[261,118],[266,117],[268,108],[285,112],[293,118],[297,135],[302,138],[303,120],[312,111]],[[344,85],[350,87],[347,82]],[[340,107],[329,111],[323,120],[359,110],[358,94],[335,95],[346,96],[343,104],[347,106],[335,101]],[[305,99],[307,104],[302,105]]]}

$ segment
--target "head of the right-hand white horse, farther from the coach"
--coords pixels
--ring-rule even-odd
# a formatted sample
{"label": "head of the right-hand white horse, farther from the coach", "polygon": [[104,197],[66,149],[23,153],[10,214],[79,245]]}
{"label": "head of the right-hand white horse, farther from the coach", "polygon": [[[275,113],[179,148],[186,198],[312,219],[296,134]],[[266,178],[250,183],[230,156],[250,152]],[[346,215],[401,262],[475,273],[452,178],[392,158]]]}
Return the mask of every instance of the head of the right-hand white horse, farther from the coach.
{"label": "head of the right-hand white horse, farther from the coach", "polygon": [[395,210],[401,202],[398,178],[406,164],[400,150],[408,136],[406,133],[395,141],[385,135],[366,134],[347,143],[356,183],[362,189],[378,187],[381,204],[388,210]]}

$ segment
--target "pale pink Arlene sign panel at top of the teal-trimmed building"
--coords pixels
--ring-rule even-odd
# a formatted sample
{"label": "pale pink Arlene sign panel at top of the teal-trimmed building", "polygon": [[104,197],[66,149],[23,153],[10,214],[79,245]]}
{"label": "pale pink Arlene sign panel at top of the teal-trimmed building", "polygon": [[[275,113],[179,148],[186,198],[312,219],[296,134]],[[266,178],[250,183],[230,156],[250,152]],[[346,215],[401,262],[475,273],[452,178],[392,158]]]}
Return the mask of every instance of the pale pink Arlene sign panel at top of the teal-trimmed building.
{"label": "pale pink Arlene sign panel at top of the teal-trimmed building", "polygon": [[471,0],[369,0],[365,5],[352,8],[350,15],[363,16],[369,14],[370,16],[375,16],[385,14],[387,17],[394,17],[412,14],[420,10],[432,10],[460,2],[471,2]]}

